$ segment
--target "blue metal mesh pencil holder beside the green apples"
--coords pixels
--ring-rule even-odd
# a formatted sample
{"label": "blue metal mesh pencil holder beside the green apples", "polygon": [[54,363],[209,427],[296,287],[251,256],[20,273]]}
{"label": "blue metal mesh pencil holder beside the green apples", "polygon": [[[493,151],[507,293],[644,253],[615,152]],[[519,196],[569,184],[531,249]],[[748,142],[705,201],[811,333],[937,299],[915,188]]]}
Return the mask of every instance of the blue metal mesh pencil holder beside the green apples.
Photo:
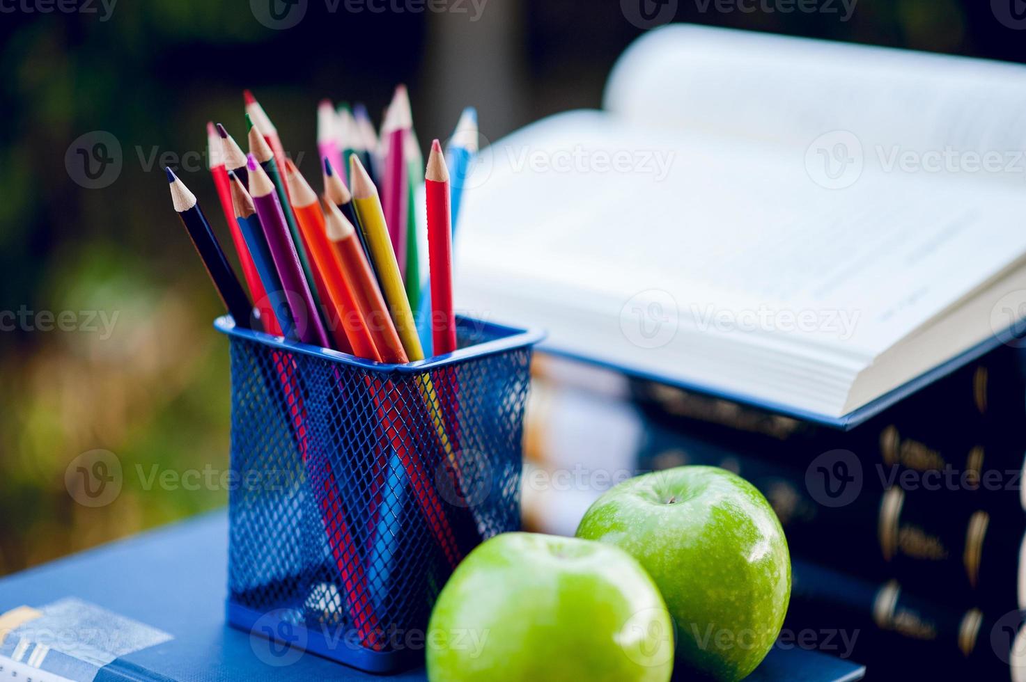
{"label": "blue metal mesh pencil holder beside the green apples", "polygon": [[460,318],[455,353],[387,365],[215,327],[231,348],[229,623],[367,672],[416,664],[456,565],[519,528],[541,334]]}

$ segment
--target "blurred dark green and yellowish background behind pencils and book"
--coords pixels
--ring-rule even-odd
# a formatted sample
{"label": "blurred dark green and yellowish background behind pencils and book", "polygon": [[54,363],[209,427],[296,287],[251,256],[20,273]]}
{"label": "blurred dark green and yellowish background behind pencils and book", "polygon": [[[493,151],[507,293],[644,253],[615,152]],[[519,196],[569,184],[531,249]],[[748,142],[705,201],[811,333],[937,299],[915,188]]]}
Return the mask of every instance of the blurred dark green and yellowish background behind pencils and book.
{"label": "blurred dark green and yellowish background behind pencils and book", "polygon": [[[270,0],[118,2],[110,12],[98,0],[72,12],[0,2],[0,322],[22,312],[0,331],[0,574],[227,500],[220,486],[187,489],[182,478],[215,480],[228,467],[228,352],[211,328],[223,311],[161,166],[180,169],[229,246],[200,155],[207,120],[242,136],[242,88],[319,186],[320,97],[377,113],[406,82],[422,143],[446,137],[466,105],[495,141],[557,111],[598,107],[609,68],[641,32],[619,0],[463,0],[444,12],[390,0],[400,11],[380,13],[309,0],[303,19],[281,30],[258,19],[261,1]],[[676,6],[677,21],[1026,57],[1023,34],[980,0],[861,0],[849,22]],[[103,157],[120,166],[103,187],[66,159],[81,135],[113,136]],[[74,329],[41,330],[45,312],[73,313]],[[95,449],[122,472],[120,494],[92,508],[69,493],[65,475]],[[164,472],[171,484],[154,479]]]}

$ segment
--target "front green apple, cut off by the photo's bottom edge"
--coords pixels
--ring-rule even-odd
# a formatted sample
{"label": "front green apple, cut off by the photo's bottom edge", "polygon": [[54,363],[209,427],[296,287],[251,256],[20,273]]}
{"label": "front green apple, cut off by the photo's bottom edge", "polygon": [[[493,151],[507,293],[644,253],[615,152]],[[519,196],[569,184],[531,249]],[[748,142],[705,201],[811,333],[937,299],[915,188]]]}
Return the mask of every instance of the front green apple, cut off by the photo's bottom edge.
{"label": "front green apple, cut off by the photo's bottom edge", "polygon": [[438,682],[666,682],[666,604],[626,552],[576,537],[504,533],[438,596],[427,636]]}

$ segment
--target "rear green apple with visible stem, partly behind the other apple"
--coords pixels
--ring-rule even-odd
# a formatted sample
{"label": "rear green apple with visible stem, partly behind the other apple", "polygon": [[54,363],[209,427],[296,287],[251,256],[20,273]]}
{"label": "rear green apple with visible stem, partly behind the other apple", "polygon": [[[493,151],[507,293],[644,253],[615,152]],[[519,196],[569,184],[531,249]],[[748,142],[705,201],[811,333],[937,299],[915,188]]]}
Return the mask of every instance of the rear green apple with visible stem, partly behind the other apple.
{"label": "rear green apple with visible stem, partly behind the other apple", "polygon": [[624,481],[595,500],[577,534],[641,562],[673,616],[681,668],[740,680],[780,634],[787,539],[770,503],[736,474],[678,467]]}

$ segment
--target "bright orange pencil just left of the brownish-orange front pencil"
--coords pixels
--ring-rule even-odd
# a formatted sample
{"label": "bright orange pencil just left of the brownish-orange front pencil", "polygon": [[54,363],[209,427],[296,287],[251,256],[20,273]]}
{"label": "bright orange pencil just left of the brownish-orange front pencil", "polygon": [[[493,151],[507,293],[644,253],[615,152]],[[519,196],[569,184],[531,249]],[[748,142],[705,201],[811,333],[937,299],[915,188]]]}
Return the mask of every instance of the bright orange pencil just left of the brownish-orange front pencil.
{"label": "bright orange pencil just left of the brownish-orange front pencil", "polygon": [[[291,159],[285,159],[285,184],[288,187],[289,196],[292,197],[292,211],[295,213],[295,222],[300,227],[303,245],[311,258],[310,267],[313,270],[317,289],[321,292],[322,303],[326,309],[324,317],[328,323],[328,333],[334,340],[336,349],[343,353],[372,359],[374,356],[372,343],[369,348],[363,343],[360,343],[359,348],[353,344],[350,327],[354,325],[349,318],[356,315],[358,322],[359,314],[355,310],[355,306],[347,300],[349,296],[348,292],[344,290],[345,287],[338,286],[340,280],[338,264],[334,262],[334,254],[324,237],[324,214],[317,204],[317,195],[310,189],[310,185],[300,174],[300,169],[295,167]],[[362,342],[362,338],[358,342]]]}

